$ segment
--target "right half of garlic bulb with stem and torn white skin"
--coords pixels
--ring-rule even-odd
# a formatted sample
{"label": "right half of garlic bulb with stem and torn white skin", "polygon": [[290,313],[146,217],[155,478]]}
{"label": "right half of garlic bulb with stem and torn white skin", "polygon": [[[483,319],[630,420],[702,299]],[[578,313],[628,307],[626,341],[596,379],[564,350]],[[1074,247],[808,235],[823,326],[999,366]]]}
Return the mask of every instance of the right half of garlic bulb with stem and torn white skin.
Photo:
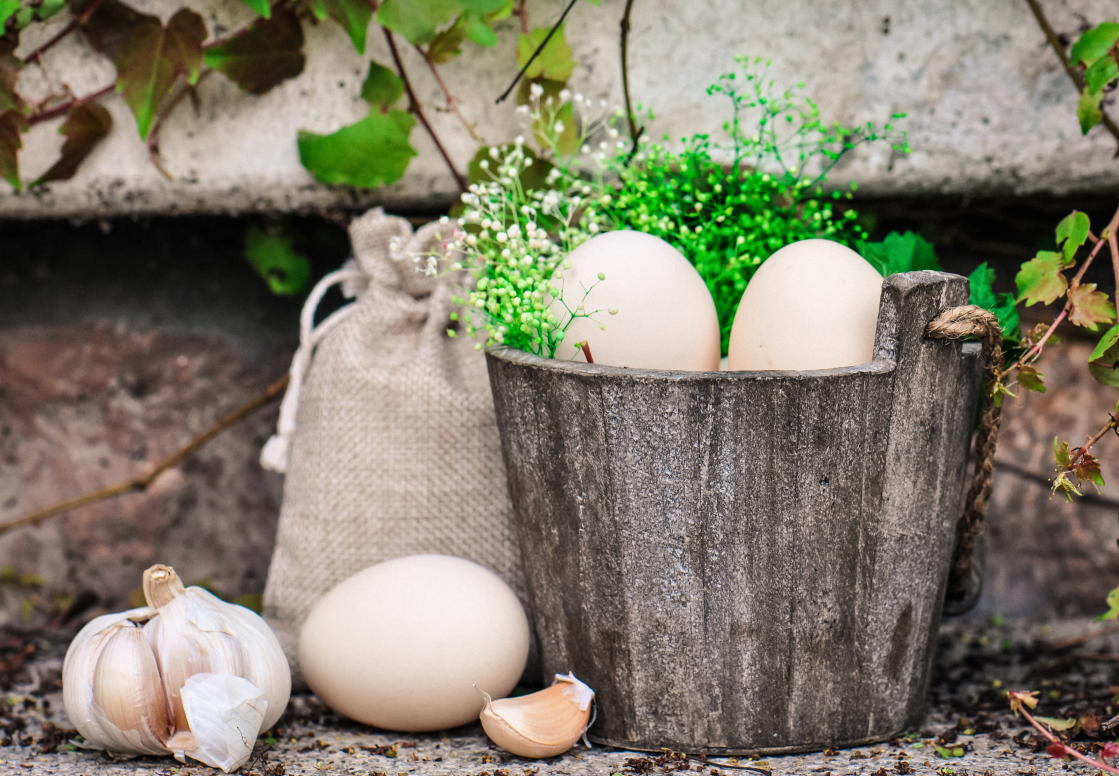
{"label": "right half of garlic bulb with stem and torn white skin", "polygon": [[[291,694],[291,671],[279,639],[256,613],[201,588],[185,588],[170,567],[144,572],[144,596],[156,609],[144,634],[159,663],[175,729],[189,730],[196,745],[188,749],[179,738],[172,748],[227,773],[241,767],[260,731],[283,714]],[[214,679],[199,684],[201,680],[192,682],[196,675]],[[194,700],[188,702],[190,692]],[[215,696],[204,698],[207,692]]]}

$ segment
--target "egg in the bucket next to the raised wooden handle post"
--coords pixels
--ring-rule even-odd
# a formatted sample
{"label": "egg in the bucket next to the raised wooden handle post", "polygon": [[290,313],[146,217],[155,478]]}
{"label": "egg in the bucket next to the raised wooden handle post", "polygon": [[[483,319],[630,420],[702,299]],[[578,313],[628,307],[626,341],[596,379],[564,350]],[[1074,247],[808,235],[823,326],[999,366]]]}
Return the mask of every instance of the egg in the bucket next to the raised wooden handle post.
{"label": "egg in the bucket next to the raised wooden handle post", "polygon": [[830,240],[802,240],[754,273],[731,328],[731,371],[827,370],[866,364],[882,299],[882,275]]}

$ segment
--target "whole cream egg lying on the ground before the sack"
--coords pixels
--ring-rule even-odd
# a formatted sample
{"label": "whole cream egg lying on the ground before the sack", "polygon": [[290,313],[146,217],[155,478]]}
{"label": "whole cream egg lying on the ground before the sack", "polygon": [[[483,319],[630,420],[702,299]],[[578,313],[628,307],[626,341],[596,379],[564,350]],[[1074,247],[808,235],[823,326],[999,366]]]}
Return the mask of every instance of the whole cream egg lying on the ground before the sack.
{"label": "whole cream egg lying on the ground before the sack", "polygon": [[474,690],[513,691],[528,660],[528,619],[497,574],[450,555],[369,567],[323,596],[299,642],[303,677],[340,714],[387,730],[466,724]]}

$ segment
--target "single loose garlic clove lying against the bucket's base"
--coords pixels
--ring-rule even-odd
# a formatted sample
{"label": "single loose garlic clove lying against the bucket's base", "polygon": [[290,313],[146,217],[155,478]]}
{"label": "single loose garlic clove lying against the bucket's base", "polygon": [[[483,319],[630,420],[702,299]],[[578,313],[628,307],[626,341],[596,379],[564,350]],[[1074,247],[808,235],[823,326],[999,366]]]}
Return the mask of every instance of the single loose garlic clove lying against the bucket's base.
{"label": "single loose garlic clove lying against the bucket's base", "polygon": [[574,674],[556,674],[555,684],[530,695],[482,698],[486,735],[514,755],[540,758],[567,751],[586,732],[594,691]]}

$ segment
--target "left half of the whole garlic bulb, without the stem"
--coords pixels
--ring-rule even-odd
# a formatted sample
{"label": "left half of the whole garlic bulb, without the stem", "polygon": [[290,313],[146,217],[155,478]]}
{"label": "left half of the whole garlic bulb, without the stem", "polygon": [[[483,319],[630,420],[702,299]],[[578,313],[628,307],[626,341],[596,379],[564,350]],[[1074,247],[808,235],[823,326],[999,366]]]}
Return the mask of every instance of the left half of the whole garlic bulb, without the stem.
{"label": "left half of the whole garlic bulb, without the stem", "polygon": [[140,621],[144,607],[97,617],[63,663],[66,714],[90,746],[119,754],[167,755],[167,696]]}

